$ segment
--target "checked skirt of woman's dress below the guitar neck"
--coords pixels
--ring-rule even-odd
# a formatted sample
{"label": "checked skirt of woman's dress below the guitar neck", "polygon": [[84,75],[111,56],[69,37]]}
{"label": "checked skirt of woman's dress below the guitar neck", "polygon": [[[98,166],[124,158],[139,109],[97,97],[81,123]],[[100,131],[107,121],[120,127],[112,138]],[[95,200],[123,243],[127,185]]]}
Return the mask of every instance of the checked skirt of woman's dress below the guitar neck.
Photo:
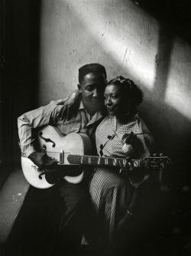
{"label": "checked skirt of woman's dress below the guitar neck", "polygon": [[89,191],[102,229],[102,241],[109,246],[115,235],[116,223],[128,208],[132,186],[118,172],[99,167],[92,178]]}

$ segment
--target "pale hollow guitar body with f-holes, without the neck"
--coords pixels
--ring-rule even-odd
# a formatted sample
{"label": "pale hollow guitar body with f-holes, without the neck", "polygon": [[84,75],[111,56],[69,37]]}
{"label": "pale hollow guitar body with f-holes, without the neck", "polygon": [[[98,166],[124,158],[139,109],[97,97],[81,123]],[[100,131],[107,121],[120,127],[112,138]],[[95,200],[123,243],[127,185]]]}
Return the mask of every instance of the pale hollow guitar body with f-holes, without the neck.
{"label": "pale hollow guitar body with f-holes, without the neck", "polygon": [[[41,151],[46,152],[47,156],[57,159],[58,164],[60,157],[62,157],[63,170],[64,165],[71,166],[67,160],[69,154],[88,155],[91,152],[91,141],[86,134],[70,133],[63,136],[56,127],[46,126],[37,133],[37,137]],[[21,156],[21,166],[25,179],[37,189],[47,189],[53,186],[47,182],[45,175],[42,175],[44,170],[27,157]],[[63,179],[73,184],[79,183],[83,179],[83,172],[79,176],[64,176]]]}

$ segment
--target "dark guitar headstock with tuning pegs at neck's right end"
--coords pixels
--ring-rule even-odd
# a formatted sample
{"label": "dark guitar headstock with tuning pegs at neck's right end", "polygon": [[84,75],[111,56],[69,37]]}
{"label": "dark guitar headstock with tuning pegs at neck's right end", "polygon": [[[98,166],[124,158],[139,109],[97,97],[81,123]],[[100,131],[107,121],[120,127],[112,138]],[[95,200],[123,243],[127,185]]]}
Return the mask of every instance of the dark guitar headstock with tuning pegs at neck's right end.
{"label": "dark guitar headstock with tuning pegs at neck's right end", "polygon": [[153,156],[145,157],[144,159],[141,159],[141,166],[143,166],[145,169],[167,169],[168,166],[171,166],[172,162],[168,156],[163,156],[163,154],[160,153],[159,156],[157,154],[154,154]]}

